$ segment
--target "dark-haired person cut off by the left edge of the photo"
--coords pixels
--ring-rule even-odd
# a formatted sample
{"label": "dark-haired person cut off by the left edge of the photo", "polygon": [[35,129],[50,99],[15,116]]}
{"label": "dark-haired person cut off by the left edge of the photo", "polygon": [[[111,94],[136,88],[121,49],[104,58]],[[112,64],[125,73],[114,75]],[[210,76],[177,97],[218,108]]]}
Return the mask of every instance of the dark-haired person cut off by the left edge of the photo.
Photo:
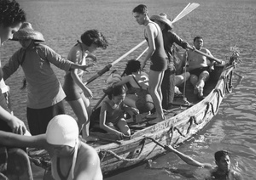
{"label": "dark-haired person cut off by the left edge of the photo", "polygon": [[[19,31],[20,25],[26,20],[26,14],[20,8],[20,4],[12,0],[0,1],[0,14],[0,47],[2,47],[4,42],[12,39],[13,34]],[[26,126],[9,109],[7,104],[9,89],[6,88],[2,76],[3,71],[0,69],[0,131],[23,135],[27,132]],[[7,95],[6,99],[4,95]],[[3,143],[4,138],[0,139],[0,179],[32,180],[31,162],[26,152],[16,148],[15,143],[7,146]]]}

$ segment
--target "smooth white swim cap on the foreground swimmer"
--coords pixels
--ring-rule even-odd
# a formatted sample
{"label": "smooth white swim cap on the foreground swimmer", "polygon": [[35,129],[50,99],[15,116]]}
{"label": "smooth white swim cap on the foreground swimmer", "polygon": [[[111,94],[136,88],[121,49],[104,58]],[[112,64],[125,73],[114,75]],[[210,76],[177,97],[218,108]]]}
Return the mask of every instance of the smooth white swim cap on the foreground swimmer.
{"label": "smooth white swim cap on the foreground swimmer", "polygon": [[47,143],[75,147],[78,138],[78,123],[70,115],[56,115],[49,121],[46,129]]}

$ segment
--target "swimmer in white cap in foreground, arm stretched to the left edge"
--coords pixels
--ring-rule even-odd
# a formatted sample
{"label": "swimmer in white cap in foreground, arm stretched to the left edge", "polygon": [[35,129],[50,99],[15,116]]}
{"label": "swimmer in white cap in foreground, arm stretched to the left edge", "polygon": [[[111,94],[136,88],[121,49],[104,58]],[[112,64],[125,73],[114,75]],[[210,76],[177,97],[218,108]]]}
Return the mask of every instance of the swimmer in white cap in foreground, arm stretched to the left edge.
{"label": "swimmer in white cap in foreground, arm stretched to the left edge", "polygon": [[5,145],[46,149],[55,180],[102,180],[99,156],[79,139],[77,121],[70,115],[56,115],[45,134],[19,136],[0,131],[0,138]]}

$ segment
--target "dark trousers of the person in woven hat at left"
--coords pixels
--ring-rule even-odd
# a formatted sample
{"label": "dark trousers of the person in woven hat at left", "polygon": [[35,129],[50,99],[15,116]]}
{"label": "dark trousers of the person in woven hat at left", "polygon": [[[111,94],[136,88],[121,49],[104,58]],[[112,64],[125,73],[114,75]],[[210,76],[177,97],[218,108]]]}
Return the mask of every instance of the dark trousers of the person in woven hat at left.
{"label": "dark trousers of the person in woven hat at left", "polygon": [[29,130],[32,135],[43,134],[46,132],[49,121],[55,115],[65,114],[63,100],[48,108],[32,109],[26,108],[26,118]]}

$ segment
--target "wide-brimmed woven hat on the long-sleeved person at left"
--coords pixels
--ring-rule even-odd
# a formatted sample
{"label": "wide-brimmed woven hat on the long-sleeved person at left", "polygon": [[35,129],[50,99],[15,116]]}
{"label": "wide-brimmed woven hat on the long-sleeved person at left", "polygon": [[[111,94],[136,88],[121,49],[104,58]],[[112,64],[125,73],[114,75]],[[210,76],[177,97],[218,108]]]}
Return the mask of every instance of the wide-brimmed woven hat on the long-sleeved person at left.
{"label": "wide-brimmed woven hat on the long-sleeved person at left", "polygon": [[34,31],[32,25],[29,22],[24,22],[20,26],[20,30],[15,32],[12,40],[19,41],[26,39],[33,39],[38,42],[44,42],[43,34],[39,31]]}

